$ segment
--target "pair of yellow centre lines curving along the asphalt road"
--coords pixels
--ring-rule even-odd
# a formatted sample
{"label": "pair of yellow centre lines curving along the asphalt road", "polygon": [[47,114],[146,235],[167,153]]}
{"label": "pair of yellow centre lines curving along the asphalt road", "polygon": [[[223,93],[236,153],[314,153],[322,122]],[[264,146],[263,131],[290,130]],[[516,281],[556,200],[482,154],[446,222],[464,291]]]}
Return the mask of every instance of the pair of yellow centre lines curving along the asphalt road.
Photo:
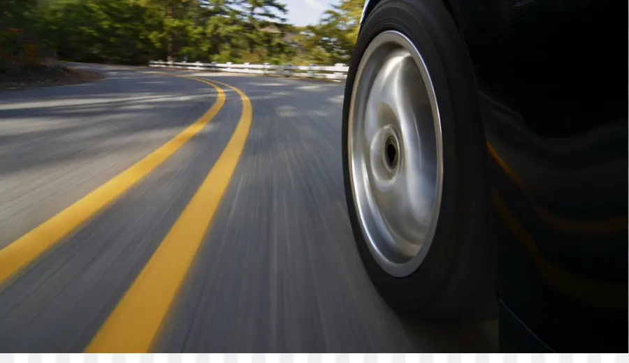
{"label": "pair of yellow centre lines curving along the asphalt road", "polygon": [[201,118],[152,154],[0,250],[2,284],[120,198],[199,133],[225,103],[223,89],[214,83],[238,93],[243,101],[243,112],[227,146],[147,265],[89,343],[87,352],[143,353],[152,348],[245,146],[252,122],[249,98],[229,84],[186,78],[209,84],[217,90],[214,105]]}

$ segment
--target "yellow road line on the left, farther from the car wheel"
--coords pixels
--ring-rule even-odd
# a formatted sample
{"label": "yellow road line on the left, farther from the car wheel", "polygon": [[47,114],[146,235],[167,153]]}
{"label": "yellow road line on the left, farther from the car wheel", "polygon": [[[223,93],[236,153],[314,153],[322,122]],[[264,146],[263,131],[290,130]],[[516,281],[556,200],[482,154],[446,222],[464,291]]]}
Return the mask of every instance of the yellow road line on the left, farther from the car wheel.
{"label": "yellow road line on the left, farther from the car wheel", "polygon": [[[186,78],[193,79],[191,77]],[[55,246],[75,228],[78,228],[89,218],[101,212],[102,209],[119,198],[129,188],[140,182],[157,166],[164,163],[169,156],[175,154],[175,151],[180,149],[192,136],[201,131],[205,124],[208,124],[225,103],[225,93],[215,84],[205,82],[204,80],[198,81],[217,89],[217,99],[210,110],[205,112],[201,118],[185,128],[175,138],[166,142],[166,144],[138,161],[138,163],[1,249],[0,284],[15,276],[17,272]]]}

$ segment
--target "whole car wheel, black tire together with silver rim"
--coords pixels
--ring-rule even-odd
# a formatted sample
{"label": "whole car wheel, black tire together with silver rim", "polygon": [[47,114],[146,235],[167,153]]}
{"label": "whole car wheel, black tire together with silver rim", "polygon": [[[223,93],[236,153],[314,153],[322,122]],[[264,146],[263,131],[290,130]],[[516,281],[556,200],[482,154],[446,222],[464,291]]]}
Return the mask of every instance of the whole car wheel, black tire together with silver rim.
{"label": "whole car wheel, black tire together with silver rim", "polygon": [[469,56],[440,1],[381,1],[349,66],[343,169],[354,239],[386,302],[495,311],[487,152]]}

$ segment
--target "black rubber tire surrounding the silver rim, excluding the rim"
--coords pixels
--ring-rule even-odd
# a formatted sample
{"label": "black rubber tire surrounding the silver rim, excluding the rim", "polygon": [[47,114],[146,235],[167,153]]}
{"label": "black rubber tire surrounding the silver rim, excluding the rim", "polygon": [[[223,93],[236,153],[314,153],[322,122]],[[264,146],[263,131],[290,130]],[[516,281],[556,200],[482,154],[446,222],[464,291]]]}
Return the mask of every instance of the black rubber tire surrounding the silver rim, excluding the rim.
{"label": "black rubber tire surrounding the silver rim, excluding the rim", "polygon": [[[352,197],[347,149],[356,71],[370,41],[387,30],[404,34],[419,50],[433,80],[442,120],[444,174],[438,227],[424,261],[403,278],[384,272],[363,239]],[[356,246],[386,302],[421,318],[493,317],[497,264],[489,233],[493,217],[485,137],[465,42],[441,1],[384,0],[368,15],[345,85],[342,149],[347,209]]]}

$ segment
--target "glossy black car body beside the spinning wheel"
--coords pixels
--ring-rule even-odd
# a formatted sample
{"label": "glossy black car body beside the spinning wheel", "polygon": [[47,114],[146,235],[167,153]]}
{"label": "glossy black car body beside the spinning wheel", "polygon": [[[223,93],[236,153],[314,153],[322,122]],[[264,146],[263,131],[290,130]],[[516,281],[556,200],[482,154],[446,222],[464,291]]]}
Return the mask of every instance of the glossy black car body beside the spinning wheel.
{"label": "glossy black car body beside the spinning wheel", "polygon": [[500,349],[627,352],[626,1],[443,3],[490,156]]}

